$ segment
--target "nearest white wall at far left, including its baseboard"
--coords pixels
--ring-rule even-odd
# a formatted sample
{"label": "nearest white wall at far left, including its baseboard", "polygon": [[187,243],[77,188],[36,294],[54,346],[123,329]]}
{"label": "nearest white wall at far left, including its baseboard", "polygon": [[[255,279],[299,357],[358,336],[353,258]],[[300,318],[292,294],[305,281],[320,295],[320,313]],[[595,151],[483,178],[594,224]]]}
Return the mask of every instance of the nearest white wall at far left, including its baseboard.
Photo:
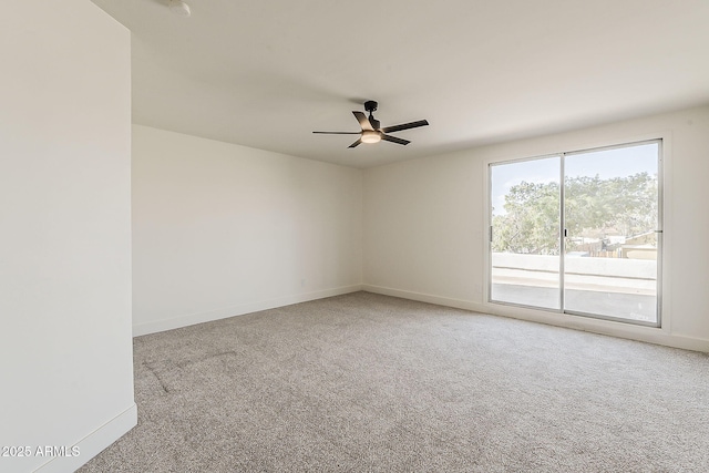
{"label": "nearest white wall at far left, including its baseboard", "polygon": [[130,35],[85,0],[3,2],[0,59],[0,445],[31,448],[0,471],[73,471],[136,422]]}

